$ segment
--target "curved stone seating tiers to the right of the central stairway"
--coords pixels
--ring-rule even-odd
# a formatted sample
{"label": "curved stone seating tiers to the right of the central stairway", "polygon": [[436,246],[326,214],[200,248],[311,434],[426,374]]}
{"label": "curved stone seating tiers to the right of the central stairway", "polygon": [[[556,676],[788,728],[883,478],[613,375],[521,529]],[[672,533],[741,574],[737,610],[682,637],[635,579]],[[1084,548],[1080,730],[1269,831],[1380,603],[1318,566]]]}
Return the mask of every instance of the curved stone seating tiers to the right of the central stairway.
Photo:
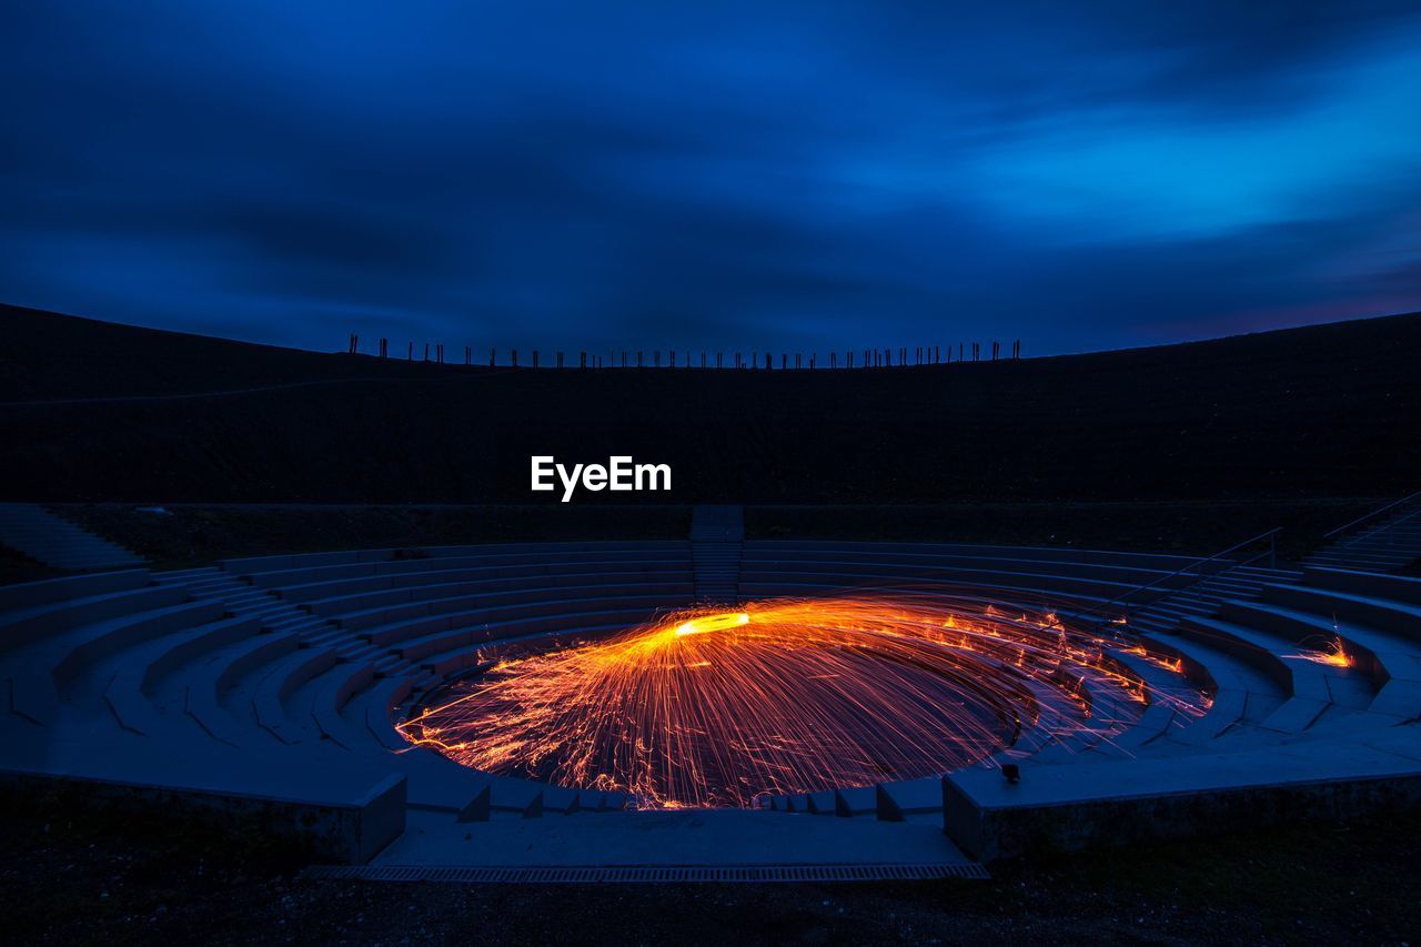
{"label": "curved stone seating tiers to the right of the central stairway", "polygon": [[[1410,607],[1421,617],[1421,583],[1324,574],[1320,569],[1306,574],[1233,569],[1226,562],[1199,582],[1194,573],[1177,574],[1189,562],[1091,550],[752,540],[745,545],[740,592],[762,597],[863,589],[953,594],[965,589],[1005,603],[1056,607],[1069,616],[1079,609],[1108,614],[1121,596],[1152,583],[1151,597],[1131,596],[1130,627],[1151,650],[1177,660],[1184,677],[1206,692],[1204,715],[1181,714],[1168,700],[1151,701],[1124,734],[1026,755],[1000,754],[1003,762],[1044,766],[1242,752],[1414,724],[1421,715],[1421,694],[1411,683],[1421,634],[1407,650],[1403,630]],[[1376,601],[1358,600],[1368,597]],[[1289,610],[1297,614],[1290,617]],[[1307,616],[1304,627],[1279,633],[1279,621],[1296,623],[1299,614]],[[1339,616],[1350,661],[1346,667],[1319,660],[1330,644],[1319,633],[1336,628]],[[1354,621],[1350,636],[1349,616]],[[1331,637],[1337,637],[1336,630]],[[1178,691],[1178,677],[1152,663],[1135,661],[1133,670],[1147,692]],[[894,802],[895,796],[902,798]],[[840,816],[881,815],[899,806],[908,813],[938,812],[941,793],[936,779],[904,781],[882,783],[877,792],[841,791],[837,799],[836,793],[809,793],[776,798],[770,805]]]}

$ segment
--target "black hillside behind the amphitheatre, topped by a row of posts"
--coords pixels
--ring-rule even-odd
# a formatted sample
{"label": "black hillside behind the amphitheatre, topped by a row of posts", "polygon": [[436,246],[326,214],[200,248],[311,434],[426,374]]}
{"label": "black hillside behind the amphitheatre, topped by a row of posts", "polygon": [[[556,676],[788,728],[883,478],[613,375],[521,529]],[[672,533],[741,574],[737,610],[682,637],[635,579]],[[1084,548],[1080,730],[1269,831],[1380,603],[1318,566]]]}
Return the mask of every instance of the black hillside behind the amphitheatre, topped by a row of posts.
{"label": "black hillside behind the amphitheatre, topped by a row of posts", "polygon": [[[1421,316],[813,373],[490,373],[0,319],[7,498],[556,502],[529,491],[533,454],[674,468],[671,496],[581,503],[1357,496],[1421,481]],[[199,394],[267,385],[287,387]]]}

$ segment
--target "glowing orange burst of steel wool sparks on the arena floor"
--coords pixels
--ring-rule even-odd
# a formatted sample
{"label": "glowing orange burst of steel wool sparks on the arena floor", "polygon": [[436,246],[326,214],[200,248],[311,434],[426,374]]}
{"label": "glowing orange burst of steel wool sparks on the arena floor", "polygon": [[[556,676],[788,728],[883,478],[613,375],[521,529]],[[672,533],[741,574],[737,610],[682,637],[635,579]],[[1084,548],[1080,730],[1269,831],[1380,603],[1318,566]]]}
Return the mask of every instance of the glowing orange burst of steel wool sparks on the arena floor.
{"label": "glowing orange burst of steel wool sparks on the arena floor", "polygon": [[1138,718],[1140,681],[1049,613],[850,597],[693,610],[504,660],[401,725],[460,764],[644,808],[946,772]]}

